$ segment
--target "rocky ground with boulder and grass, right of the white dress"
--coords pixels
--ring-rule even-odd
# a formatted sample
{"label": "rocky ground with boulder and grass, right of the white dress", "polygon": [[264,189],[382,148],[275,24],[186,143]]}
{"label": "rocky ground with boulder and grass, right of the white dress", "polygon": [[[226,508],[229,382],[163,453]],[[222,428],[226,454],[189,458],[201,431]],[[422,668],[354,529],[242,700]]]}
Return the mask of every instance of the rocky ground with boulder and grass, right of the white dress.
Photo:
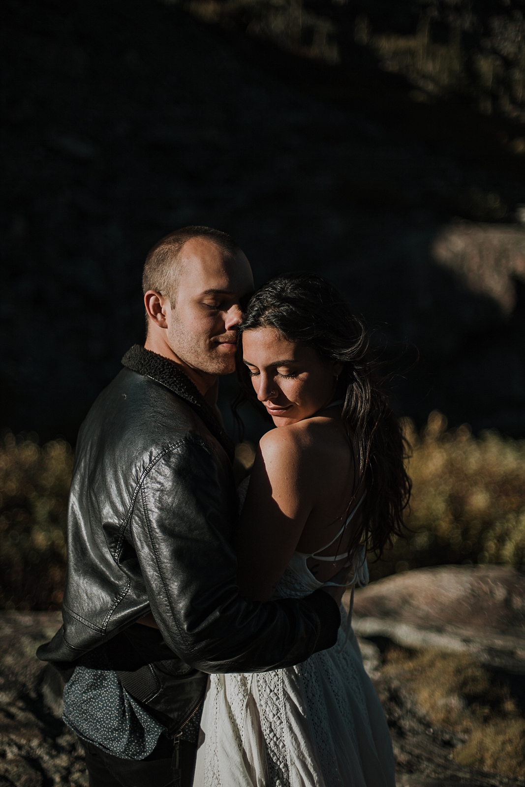
{"label": "rocky ground with boulder and grass, right of the white dress", "polygon": [[525,775],[523,573],[441,566],[387,577],[357,590],[353,628],[389,719],[398,785]]}

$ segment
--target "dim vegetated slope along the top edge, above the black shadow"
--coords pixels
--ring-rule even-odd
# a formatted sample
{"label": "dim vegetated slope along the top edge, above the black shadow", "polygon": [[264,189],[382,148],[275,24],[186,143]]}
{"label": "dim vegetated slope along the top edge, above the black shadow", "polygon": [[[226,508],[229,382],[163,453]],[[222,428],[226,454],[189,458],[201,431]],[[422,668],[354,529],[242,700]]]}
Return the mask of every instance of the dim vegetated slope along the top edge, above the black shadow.
{"label": "dim vegetated slope along the top edge, above the black shadow", "polygon": [[455,97],[485,115],[525,118],[522,0],[179,2],[210,22],[340,64],[349,79],[375,66],[405,77],[416,101]]}

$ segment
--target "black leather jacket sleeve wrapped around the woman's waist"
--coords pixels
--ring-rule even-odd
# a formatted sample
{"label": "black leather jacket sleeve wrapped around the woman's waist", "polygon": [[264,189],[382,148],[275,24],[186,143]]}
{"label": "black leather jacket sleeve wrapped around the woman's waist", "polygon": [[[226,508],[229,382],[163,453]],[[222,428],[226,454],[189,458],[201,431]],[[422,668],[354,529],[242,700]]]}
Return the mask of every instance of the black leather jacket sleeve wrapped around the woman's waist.
{"label": "black leather jacket sleeve wrapped around the woman's waist", "polygon": [[250,672],[335,645],[340,613],[327,593],[267,602],[238,593],[231,478],[208,445],[185,438],[152,464],[129,537],[169,648],[205,672]]}

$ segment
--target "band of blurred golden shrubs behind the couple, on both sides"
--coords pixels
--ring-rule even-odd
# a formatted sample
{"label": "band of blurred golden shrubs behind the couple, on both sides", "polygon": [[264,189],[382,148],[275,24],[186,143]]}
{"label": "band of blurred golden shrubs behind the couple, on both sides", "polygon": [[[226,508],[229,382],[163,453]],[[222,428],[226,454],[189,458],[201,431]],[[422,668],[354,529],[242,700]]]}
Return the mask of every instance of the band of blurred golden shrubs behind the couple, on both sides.
{"label": "band of blurred golden shrubs behind the couple, on both sides", "polygon": [[[417,434],[406,421],[413,480],[408,538],[397,539],[372,578],[444,563],[525,563],[525,441],[467,427],[446,430],[431,413]],[[249,467],[253,446],[237,449]],[[61,440],[39,447],[30,437],[0,442],[0,605],[60,604],[65,514],[72,450]]]}

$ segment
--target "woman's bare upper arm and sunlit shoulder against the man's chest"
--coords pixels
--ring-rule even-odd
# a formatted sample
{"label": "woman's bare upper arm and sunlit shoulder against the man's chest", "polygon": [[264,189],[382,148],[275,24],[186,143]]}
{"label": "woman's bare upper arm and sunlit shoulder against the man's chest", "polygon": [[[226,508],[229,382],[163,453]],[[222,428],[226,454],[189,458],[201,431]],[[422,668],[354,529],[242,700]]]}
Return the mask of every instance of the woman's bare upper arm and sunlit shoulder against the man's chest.
{"label": "woman's bare upper arm and sunlit shoulder against the man's chest", "polygon": [[272,597],[301,538],[315,504],[308,453],[301,429],[280,427],[261,439],[237,539],[238,583],[247,597]]}

